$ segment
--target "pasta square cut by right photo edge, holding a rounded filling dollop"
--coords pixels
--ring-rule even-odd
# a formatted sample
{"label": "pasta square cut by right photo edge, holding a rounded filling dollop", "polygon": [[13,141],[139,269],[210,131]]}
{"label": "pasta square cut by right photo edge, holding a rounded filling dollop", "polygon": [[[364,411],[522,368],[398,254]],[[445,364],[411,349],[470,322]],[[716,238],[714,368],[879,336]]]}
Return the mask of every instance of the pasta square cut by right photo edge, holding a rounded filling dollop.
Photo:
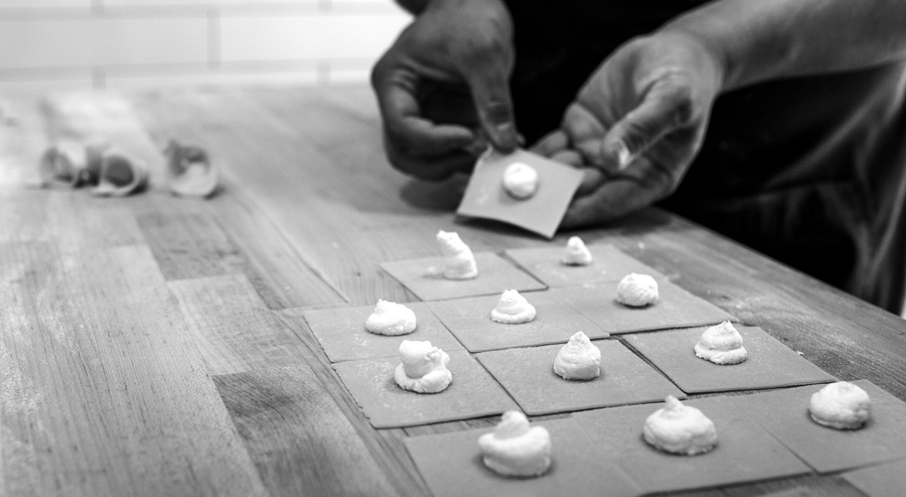
{"label": "pasta square cut by right photo edge, holding a rounded filling dollop", "polygon": [[872,417],[859,430],[835,430],[812,420],[809,400],[823,385],[732,399],[818,473],[906,458],[906,404],[868,380],[853,383],[872,398]]}

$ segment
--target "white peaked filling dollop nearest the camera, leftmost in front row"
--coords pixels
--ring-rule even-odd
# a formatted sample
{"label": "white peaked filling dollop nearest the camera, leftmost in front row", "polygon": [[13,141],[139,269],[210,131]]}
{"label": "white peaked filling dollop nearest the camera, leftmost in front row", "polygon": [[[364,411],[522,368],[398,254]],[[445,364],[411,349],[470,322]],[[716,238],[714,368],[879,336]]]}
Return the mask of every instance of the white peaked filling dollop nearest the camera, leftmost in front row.
{"label": "white peaked filling dollop nearest the camera, leftmost in front row", "polygon": [[551,435],[525,414],[506,411],[493,432],[478,438],[482,460],[504,476],[539,476],[551,467]]}

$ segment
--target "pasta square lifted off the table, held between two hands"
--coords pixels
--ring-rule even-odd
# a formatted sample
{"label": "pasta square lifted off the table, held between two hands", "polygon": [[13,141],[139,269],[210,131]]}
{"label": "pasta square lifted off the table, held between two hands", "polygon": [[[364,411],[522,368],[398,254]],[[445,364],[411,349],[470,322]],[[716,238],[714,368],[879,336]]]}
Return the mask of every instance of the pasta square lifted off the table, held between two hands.
{"label": "pasta square lifted off the table, held between two hands", "polygon": [[[504,171],[514,162],[528,164],[538,173],[538,190],[528,199],[516,199],[503,188]],[[550,239],[560,226],[582,176],[582,171],[572,166],[530,151],[486,154],[472,171],[457,214],[504,221]]]}

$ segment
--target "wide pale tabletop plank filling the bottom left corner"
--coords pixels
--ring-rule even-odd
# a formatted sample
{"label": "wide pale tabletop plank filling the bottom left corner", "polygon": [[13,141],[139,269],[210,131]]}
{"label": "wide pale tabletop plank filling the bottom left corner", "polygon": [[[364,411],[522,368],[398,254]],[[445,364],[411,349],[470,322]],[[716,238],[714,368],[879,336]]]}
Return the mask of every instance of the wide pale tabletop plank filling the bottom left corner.
{"label": "wide pale tabletop plank filling the bottom left corner", "polygon": [[5,490],[266,495],[148,248],[0,245]]}

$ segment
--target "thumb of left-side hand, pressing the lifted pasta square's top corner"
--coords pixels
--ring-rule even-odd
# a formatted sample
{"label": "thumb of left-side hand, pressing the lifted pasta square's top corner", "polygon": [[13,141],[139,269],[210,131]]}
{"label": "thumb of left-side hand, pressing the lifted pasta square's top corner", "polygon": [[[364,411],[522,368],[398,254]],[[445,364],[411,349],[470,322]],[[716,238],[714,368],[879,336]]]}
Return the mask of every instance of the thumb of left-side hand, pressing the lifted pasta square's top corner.
{"label": "thumb of left-side hand, pressing the lifted pasta square's top corner", "polygon": [[509,79],[501,68],[476,71],[468,85],[475,99],[478,121],[491,144],[499,151],[513,151],[520,143],[513,117],[513,99]]}

